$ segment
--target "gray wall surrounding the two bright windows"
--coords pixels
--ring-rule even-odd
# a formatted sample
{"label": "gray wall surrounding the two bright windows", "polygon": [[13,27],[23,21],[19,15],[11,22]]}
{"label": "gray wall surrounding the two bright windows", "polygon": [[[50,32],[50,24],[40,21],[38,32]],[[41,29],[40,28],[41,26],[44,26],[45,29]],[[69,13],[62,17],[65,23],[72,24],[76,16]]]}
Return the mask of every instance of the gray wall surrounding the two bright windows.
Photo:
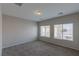
{"label": "gray wall surrounding the two bright windows", "polygon": [[[65,24],[73,23],[73,28],[74,28],[73,41],[54,39],[54,24],[64,24],[64,23]],[[51,37],[45,38],[45,37],[40,37],[39,35],[40,40],[79,50],[79,14],[78,13],[41,21],[39,22],[39,28],[41,25],[51,26],[50,29]]]}

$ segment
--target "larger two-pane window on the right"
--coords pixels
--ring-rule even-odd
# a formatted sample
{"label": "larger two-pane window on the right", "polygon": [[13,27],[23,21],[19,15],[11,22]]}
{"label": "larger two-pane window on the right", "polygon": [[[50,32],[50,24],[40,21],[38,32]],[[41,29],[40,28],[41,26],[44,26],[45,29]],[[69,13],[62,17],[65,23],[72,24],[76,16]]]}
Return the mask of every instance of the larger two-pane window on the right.
{"label": "larger two-pane window on the right", "polygon": [[63,40],[73,40],[73,24],[54,25],[54,38]]}

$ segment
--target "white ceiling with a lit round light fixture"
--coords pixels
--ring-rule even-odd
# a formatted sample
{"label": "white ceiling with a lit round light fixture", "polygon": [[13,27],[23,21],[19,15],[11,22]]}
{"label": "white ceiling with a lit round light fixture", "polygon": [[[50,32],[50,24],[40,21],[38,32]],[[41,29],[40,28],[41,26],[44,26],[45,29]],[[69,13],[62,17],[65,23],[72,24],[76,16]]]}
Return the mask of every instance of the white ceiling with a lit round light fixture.
{"label": "white ceiling with a lit round light fixture", "polygon": [[[41,10],[42,16],[36,16],[35,10]],[[58,15],[63,12],[62,15]],[[2,4],[2,13],[6,15],[16,16],[32,21],[42,21],[49,18],[63,16],[71,13],[79,12],[78,3],[24,3],[21,7],[13,4]]]}

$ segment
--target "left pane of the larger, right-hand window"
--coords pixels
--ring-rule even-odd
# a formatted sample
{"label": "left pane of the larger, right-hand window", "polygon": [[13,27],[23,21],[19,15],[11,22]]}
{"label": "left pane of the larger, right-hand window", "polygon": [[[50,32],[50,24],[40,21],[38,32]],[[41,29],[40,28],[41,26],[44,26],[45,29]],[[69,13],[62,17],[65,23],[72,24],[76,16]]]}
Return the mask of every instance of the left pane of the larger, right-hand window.
{"label": "left pane of the larger, right-hand window", "polygon": [[62,24],[54,25],[54,38],[62,39]]}

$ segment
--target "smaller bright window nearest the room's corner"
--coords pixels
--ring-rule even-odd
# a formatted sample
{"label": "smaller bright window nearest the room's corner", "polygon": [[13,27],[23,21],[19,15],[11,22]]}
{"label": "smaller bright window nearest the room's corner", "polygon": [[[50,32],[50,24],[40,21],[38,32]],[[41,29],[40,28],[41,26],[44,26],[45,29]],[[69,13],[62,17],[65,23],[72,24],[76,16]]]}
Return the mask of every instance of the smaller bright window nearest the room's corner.
{"label": "smaller bright window nearest the room's corner", "polygon": [[40,26],[40,36],[50,37],[50,26]]}

